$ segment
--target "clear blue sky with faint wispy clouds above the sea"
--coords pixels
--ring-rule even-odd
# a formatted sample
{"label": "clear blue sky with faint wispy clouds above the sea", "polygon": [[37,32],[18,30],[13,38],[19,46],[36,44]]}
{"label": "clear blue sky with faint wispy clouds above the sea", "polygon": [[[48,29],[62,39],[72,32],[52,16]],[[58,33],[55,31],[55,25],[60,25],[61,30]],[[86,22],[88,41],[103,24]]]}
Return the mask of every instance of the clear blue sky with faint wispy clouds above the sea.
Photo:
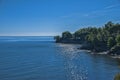
{"label": "clear blue sky with faint wispy clouds above the sea", "polygon": [[0,0],[0,36],[54,36],[108,21],[120,23],[120,0]]}

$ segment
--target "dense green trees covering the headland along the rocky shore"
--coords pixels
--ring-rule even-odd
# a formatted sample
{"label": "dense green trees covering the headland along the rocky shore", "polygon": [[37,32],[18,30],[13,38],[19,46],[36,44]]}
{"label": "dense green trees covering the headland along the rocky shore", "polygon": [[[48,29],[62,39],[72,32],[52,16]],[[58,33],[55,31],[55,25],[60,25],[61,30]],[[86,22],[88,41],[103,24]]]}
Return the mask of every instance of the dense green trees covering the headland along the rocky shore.
{"label": "dense green trees covering the headland along the rocky shore", "polygon": [[74,32],[62,33],[54,37],[57,43],[81,43],[83,49],[94,52],[109,51],[109,54],[120,54],[120,24],[109,21],[103,27],[87,27]]}

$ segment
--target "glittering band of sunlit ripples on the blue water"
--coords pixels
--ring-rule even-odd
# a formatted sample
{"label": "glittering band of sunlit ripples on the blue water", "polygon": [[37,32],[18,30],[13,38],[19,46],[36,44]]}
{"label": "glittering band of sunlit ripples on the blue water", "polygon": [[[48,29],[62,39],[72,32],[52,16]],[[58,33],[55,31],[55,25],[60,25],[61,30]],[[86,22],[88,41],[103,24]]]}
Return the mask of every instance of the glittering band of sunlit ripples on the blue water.
{"label": "glittering band of sunlit ripples on the blue water", "polygon": [[[83,56],[80,55],[80,50],[77,50],[79,45],[74,44],[60,44],[62,55],[65,59],[65,70],[67,72],[68,80],[86,80],[87,68],[83,63]],[[81,64],[81,65],[80,65]]]}

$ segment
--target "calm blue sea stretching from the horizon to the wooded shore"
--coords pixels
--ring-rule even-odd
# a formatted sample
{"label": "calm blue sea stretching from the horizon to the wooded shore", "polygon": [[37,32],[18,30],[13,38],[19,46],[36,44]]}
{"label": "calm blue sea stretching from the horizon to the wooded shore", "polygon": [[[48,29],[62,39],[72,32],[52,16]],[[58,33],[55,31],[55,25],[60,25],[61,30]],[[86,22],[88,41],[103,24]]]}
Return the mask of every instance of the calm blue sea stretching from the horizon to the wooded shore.
{"label": "calm blue sea stretching from the horizon to the wooded shore", "polygon": [[120,60],[56,44],[53,37],[0,37],[0,80],[113,80]]}

